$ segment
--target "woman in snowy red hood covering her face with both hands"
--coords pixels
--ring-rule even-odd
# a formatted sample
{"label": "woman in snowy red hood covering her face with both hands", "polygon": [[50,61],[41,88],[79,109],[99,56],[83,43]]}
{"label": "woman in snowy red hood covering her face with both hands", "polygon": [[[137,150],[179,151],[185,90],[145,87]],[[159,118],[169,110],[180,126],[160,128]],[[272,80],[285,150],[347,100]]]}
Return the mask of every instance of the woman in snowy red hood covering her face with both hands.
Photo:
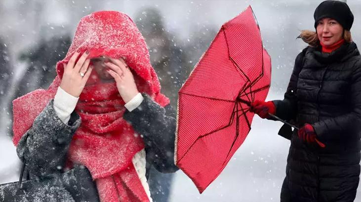
{"label": "woman in snowy red hood covering her face with both hands", "polygon": [[100,201],[152,201],[146,170],[174,172],[174,112],[144,38],[116,11],[83,17],[57,76],[13,101],[17,153],[45,176],[83,165]]}

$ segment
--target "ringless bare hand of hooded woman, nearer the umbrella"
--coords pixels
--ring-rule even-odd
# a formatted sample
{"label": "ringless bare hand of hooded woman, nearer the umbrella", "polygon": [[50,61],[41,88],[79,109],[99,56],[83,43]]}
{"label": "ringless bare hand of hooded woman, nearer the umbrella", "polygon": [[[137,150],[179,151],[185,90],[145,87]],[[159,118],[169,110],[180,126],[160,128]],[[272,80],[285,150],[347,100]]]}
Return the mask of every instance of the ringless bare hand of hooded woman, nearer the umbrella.
{"label": "ringless bare hand of hooded woman, nearer the umbrella", "polygon": [[123,59],[109,59],[111,62],[105,63],[109,68],[107,72],[116,80],[119,94],[123,101],[127,103],[139,93],[133,74]]}

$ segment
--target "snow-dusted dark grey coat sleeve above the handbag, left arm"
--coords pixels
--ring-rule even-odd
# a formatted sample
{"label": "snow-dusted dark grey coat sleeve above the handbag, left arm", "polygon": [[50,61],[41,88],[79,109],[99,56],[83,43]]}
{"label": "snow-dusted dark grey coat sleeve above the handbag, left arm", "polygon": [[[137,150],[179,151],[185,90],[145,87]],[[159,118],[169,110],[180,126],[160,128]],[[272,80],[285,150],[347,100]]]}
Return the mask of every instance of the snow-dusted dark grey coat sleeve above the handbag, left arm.
{"label": "snow-dusted dark grey coat sleeve above the handbag, left arm", "polygon": [[49,101],[16,148],[31,174],[45,176],[62,169],[80,122],[79,115],[73,112],[68,124],[64,124],[55,113],[53,100]]}

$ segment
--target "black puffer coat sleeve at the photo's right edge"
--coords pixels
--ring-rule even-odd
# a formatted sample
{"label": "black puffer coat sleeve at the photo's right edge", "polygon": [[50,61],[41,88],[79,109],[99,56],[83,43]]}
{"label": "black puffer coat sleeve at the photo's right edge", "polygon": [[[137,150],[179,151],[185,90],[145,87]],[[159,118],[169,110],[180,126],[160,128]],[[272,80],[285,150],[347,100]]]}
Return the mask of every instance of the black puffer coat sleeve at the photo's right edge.
{"label": "black puffer coat sleeve at the photo's right edge", "polygon": [[360,138],[350,135],[359,135],[361,129],[361,60],[352,73],[350,106],[351,111],[346,114],[312,124],[320,141]]}

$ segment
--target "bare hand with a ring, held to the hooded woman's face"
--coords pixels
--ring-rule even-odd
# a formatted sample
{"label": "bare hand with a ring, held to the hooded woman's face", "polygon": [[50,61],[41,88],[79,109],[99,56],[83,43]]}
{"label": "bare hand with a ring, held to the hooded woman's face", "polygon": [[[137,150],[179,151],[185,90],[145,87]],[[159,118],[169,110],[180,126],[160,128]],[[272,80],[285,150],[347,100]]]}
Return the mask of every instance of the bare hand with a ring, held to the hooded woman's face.
{"label": "bare hand with a ring, held to the hooded woman's face", "polygon": [[69,63],[64,64],[63,78],[60,83],[60,87],[65,92],[77,98],[80,96],[86,81],[93,70],[92,66],[89,67],[90,59],[86,59],[89,52],[86,51],[83,53],[78,62],[75,64],[79,55],[80,52],[75,52],[70,58]]}

